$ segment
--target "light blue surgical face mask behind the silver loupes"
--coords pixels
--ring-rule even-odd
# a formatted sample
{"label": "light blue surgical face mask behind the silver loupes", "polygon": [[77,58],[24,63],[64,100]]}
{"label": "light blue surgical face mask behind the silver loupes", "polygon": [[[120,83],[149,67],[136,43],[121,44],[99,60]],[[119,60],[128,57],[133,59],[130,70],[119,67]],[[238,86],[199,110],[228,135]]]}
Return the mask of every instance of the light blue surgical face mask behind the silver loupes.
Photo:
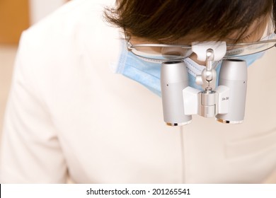
{"label": "light blue surgical face mask behind the silver loupes", "polygon": [[[247,65],[249,66],[255,62],[256,59],[262,57],[263,54],[264,52],[259,52],[256,54],[239,57],[238,59],[246,60]],[[188,69],[189,86],[202,90],[202,87],[195,83],[195,76],[202,74],[202,70],[205,69],[205,66],[197,64],[190,58],[184,59],[183,61],[185,62]],[[217,70],[217,74],[219,74],[222,61],[215,62],[214,64],[214,67]],[[126,47],[124,46],[122,47],[120,59],[115,69],[116,73],[122,74],[127,76],[127,78],[131,78],[132,80],[141,83],[143,86],[159,96],[161,96],[160,71],[160,62],[154,60],[145,60],[137,57],[136,55],[132,54],[132,52],[127,51]]]}

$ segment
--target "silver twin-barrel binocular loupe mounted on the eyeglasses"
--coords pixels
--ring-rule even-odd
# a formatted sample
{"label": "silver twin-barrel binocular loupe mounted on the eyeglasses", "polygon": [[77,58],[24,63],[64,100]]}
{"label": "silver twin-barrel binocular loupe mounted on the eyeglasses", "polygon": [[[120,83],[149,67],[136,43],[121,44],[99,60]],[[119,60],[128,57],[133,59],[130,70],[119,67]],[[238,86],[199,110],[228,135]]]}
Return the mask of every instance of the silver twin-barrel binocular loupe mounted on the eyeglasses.
{"label": "silver twin-barrel binocular loupe mounted on the eyeglasses", "polygon": [[[224,59],[217,73],[213,62],[226,53],[226,43],[192,43],[197,59],[206,62],[206,68],[196,82],[203,91],[189,86],[185,62],[168,61],[161,65],[161,95],[163,119],[169,126],[192,122],[192,115],[215,117],[218,122],[243,122],[246,105],[247,65],[240,59]],[[204,56],[202,54],[205,54]]]}

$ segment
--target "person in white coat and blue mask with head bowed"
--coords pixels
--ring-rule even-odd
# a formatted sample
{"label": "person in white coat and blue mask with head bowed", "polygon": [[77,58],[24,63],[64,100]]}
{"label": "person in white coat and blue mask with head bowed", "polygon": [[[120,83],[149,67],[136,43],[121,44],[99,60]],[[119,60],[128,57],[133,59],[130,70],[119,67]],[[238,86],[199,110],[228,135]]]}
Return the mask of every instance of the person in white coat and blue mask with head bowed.
{"label": "person in white coat and blue mask with head bowed", "polygon": [[[263,182],[276,168],[273,65],[249,66],[243,124],[195,115],[168,127],[160,62],[131,45],[237,47],[273,37],[274,21],[271,0],[70,1],[21,37],[1,183]],[[183,61],[191,79],[205,67],[195,54]]]}

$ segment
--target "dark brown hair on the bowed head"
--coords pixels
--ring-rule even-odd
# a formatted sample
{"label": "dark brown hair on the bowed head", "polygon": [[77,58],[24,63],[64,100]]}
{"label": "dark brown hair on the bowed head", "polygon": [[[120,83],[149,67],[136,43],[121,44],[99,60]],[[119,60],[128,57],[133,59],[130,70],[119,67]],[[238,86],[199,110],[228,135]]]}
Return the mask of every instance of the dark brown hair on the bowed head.
{"label": "dark brown hair on the bowed head", "polygon": [[175,41],[199,33],[217,39],[239,30],[239,37],[256,19],[275,18],[276,0],[117,0],[105,8],[105,19],[132,36]]}

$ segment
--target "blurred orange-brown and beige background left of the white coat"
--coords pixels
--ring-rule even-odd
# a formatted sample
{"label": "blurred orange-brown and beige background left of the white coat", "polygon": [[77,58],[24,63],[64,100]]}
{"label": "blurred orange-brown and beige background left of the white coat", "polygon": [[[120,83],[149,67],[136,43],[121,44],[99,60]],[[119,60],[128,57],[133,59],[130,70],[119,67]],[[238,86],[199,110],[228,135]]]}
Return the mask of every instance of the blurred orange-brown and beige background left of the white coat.
{"label": "blurred orange-brown and beige background left of the white coat", "polygon": [[0,0],[0,135],[20,35],[67,1]]}

